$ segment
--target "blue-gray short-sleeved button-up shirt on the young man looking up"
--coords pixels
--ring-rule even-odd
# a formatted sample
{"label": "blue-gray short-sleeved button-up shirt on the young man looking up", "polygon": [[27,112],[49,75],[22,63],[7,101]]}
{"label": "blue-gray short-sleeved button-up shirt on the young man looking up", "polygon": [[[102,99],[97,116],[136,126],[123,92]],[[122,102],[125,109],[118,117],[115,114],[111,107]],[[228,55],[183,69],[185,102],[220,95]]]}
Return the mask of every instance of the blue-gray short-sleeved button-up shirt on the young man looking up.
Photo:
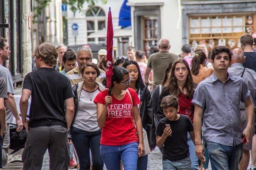
{"label": "blue-gray short-sleeved button-up shirt on the young man looking up", "polygon": [[192,103],[203,109],[203,138],[226,146],[242,143],[240,101],[249,96],[248,86],[228,74],[225,83],[213,73],[197,85]]}

